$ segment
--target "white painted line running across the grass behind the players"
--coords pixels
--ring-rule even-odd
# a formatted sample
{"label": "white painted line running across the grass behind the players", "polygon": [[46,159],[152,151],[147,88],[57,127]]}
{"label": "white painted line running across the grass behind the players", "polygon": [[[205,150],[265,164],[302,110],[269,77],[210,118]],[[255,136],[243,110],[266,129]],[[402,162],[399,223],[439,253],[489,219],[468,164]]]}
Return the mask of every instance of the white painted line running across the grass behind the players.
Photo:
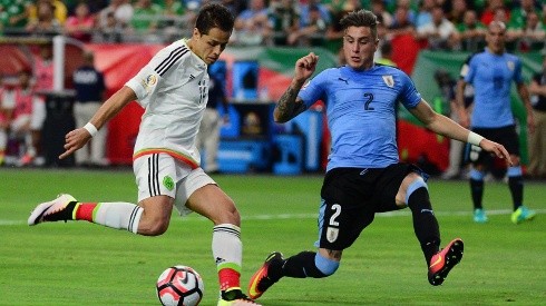
{"label": "white painted line running across the grass behind the players", "polygon": [[[534,209],[537,214],[546,214],[546,209]],[[496,209],[496,210],[486,210],[487,215],[509,215],[511,214],[510,209]],[[470,210],[465,211],[436,211],[437,216],[471,216],[472,213]],[[207,220],[204,217],[197,216],[195,214],[191,215],[189,218],[173,218],[172,220],[176,221],[204,221]],[[194,216],[197,216],[194,217]],[[376,217],[402,217],[402,216],[411,216],[411,211],[409,209],[390,211],[390,213],[381,213],[376,215]],[[282,220],[282,219],[315,219],[316,214],[281,214],[281,215],[254,215],[254,216],[245,216],[242,217],[243,220]],[[26,225],[27,220],[6,220],[0,219],[0,226],[13,226],[13,225]]]}

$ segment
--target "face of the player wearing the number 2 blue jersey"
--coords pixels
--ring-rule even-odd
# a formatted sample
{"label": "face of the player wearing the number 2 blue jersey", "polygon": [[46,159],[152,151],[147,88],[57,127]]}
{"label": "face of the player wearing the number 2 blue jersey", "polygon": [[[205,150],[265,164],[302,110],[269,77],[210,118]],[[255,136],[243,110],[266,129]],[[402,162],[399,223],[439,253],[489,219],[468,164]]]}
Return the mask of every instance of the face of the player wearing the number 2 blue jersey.
{"label": "face of the player wearing the number 2 blue jersey", "polygon": [[373,65],[378,39],[369,27],[349,27],[343,36],[343,53],[347,65],[353,69],[368,69]]}

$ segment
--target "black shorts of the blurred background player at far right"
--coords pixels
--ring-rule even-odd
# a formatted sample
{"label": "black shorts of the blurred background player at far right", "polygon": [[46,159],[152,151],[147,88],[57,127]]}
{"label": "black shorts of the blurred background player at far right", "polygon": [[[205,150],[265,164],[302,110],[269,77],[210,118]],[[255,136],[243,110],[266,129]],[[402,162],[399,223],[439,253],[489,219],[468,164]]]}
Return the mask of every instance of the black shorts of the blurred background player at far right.
{"label": "black shorts of the blurred background player at far right", "polygon": [[[516,126],[507,126],[501,128],[474,128],[474,132],[484,136],[485,138],[503,145],[510,155],[519,155],[519,137],[516,131]],[[494,156],[490,152],[484,151],[478,146],[468,145],[467,160],[474,165],[491,165]]]}

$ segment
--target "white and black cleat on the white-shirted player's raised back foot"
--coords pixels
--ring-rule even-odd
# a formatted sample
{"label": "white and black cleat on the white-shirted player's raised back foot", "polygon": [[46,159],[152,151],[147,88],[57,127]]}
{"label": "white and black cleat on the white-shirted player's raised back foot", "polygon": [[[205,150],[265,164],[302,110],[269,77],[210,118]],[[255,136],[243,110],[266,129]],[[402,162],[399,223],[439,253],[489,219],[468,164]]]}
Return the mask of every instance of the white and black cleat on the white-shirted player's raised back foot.
{"label": "white and black cleat on the white-shirted player's raised back foot", "polygon": [[61,194],[55,200],[38,205],[30,214],[28,224],[32,226],[43,221],[71,220],[76,203],[72,196]]}

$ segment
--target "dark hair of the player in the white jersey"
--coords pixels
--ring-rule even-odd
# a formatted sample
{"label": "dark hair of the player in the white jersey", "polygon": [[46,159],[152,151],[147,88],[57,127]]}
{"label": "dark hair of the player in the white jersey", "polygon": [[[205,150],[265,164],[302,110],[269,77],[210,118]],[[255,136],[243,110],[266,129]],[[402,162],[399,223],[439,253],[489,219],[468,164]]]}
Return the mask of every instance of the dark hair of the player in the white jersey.
{"label": "dark hair of the player in the white jersey", "polygon": [[233,31],[233,24],[235,18],[232,12],[220,3],[205,4],[195,21],[195,28],[199,30],[202,34],[208,34],[212,28],[218,28],[225,32]]}

